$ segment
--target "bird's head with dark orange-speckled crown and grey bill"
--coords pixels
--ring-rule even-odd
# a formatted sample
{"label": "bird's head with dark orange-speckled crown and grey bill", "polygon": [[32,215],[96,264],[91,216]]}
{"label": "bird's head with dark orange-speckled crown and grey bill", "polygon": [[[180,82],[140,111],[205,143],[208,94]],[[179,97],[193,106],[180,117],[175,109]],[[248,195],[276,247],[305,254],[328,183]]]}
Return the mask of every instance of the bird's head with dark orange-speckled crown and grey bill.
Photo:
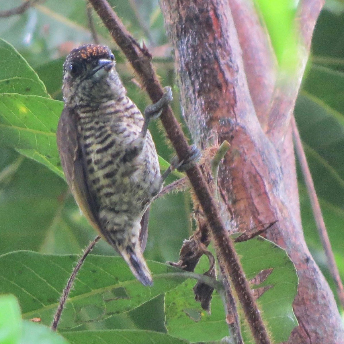
{"label": "bird's head with dark orange-speckled crown and grey bill", "polygon": [[107,46],[86,44],[73,49],[63,65],[63,99],[69,106],[98,104],[125,93]]}

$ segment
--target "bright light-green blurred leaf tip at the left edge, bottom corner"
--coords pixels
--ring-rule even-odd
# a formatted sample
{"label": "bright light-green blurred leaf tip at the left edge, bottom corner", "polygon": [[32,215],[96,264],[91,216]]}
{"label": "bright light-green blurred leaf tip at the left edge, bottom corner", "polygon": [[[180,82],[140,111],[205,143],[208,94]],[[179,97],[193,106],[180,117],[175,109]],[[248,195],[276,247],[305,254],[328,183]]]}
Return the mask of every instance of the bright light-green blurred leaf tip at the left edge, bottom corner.
{"label": "bright light-green blurred leaf tip at the left edge, bottom corner", "polygon": [[18,344],[22,320],[17,299],[13,295],[0,295],[0,343]]}

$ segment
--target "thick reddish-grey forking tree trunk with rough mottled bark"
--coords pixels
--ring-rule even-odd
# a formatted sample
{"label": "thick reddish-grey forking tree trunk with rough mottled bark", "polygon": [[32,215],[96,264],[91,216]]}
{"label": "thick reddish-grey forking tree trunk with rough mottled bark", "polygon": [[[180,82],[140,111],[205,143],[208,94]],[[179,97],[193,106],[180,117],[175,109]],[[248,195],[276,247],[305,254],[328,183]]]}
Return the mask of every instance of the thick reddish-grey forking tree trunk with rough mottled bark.
{"label": "thick reddish-grey forking tree trunk with rough mottled bark", "polygon": [[[321,1],[301,2],[305,51],[321,5]],[[254,68],[259,61],[262,65],[260,59],[269,49],[254,54],[259,44],[249,44],[250,35],[242,33],[240,20],[236,20],[238,39],[233,16],[240,18],[240,6],[244,6],[240,1],[230,0],[161,1],[175,52],[183,115],[201,148],[216,137],[219,143],[226,139],[231,144],[219,171],[219,183],[233,212],[230,219],[223,216],[228,218],[228,230],[243,231],[278,220],[267,236],[286,248],[300,279],[293,304],[299,326],[288,343],[344,343],[333,294],[305,244],[300,221],[290,118],[305,61],[287,84],[277,81],[272,109],[264,112],[268,104],[261,102],[271,97],[274,71],[265,78]],[[252,25],[255,28],[246,29],[258,30],[254,37],[259,39],[264,29],[257,27],[256,19]],[[250,92],[257,84],[269,85],[266,94]],[[268,123],[267,133],[260,123],[263,127]]]}

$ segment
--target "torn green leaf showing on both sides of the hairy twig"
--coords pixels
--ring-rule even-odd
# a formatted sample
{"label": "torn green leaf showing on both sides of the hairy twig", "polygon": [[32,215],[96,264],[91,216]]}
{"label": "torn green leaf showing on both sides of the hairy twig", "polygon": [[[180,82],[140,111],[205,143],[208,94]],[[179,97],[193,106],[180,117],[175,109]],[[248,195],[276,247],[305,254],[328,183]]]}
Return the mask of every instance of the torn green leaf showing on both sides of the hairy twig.
{"label": "torn green leaf showing on both sides of the hairy twig", "polygon": [[[276,343],[287,341],[297,320],[292,303],[297,292],[298,278],[295,267],[286,251],[261,237],[235,244],[246,277],[252,279],[262,270],[271,269],[268,277],[253,288],[266,288],[258,298],[263,319]],[[173,336],[190,342],[216,341],[228,336],[224,307],[221,298],[214,293],[211,314],[201,309],[194,300],[192,286],[187,280],[166,293],[166,328]],[[243,331],[247,333],[248,331]]]}

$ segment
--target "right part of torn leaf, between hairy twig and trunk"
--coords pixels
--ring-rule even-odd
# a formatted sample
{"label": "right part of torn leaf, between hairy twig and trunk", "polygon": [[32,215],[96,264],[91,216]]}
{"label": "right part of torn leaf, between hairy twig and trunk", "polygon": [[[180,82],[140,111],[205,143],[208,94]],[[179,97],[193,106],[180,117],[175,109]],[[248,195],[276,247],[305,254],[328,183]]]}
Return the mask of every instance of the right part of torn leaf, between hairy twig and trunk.
{"label": "right part of torn leaf, between hairy twig and trunk", "polygon": [[249,280],[262,270],[272,269],[268,277],[252,289],[268,288],[258,298],[263,320],[274,342],[286,342],[298,325],[292,304],[299,279],[292,261],[285,250],[262,237],[236,243],[235,248]]}

